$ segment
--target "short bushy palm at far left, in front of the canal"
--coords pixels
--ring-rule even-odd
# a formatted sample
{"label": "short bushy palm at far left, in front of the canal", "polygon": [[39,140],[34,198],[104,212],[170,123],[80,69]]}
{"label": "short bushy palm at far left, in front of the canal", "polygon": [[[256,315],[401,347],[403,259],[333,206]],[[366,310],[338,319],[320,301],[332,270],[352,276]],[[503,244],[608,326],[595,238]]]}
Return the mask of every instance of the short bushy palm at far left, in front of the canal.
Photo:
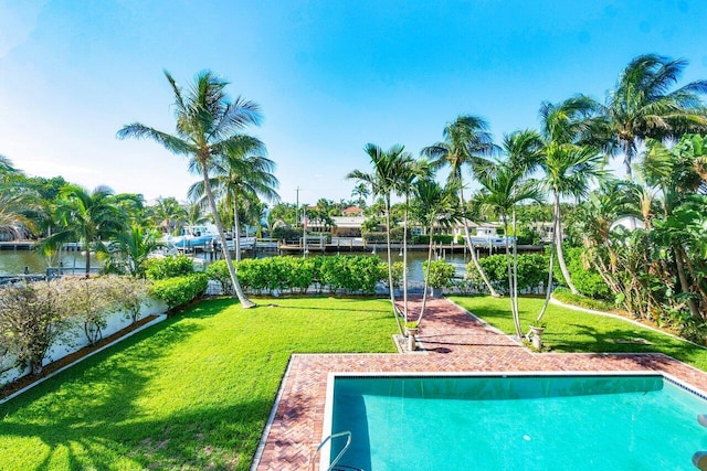
{"label": "short bushy palm at far left, in front of the canal", "polygon": [[105,242],[123,232],[127,215],[110,199],[113,190],[98,186],[88,191],[77,185],[64,188],[55,208],[59,227],[43,245],[56,247],[71,240],[84,243],[86,278],[91,274],[91,251],[105,251]]}

